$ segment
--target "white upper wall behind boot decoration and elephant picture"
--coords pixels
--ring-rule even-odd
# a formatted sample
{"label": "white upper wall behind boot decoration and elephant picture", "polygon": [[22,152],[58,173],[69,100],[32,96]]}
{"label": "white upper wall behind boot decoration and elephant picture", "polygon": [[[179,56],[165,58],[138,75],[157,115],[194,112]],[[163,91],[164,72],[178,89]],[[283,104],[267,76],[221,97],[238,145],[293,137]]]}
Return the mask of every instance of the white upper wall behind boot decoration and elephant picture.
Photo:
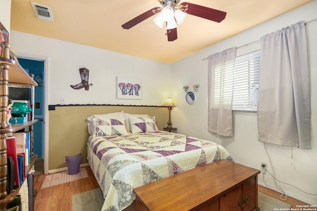
{"label": "white upper wall behind boot decoration and elephant picture", "polygon": [[[170,65],[17,31],[11,32],[11,51],[16,55],[49,58],[49,101],[60,104],[119,104],[161,106],[169,97]],[[70,85],[81,82],[79,68],[90,70],[89,91]],[[142,100],[116,99],[116,77],[142,80]]]}

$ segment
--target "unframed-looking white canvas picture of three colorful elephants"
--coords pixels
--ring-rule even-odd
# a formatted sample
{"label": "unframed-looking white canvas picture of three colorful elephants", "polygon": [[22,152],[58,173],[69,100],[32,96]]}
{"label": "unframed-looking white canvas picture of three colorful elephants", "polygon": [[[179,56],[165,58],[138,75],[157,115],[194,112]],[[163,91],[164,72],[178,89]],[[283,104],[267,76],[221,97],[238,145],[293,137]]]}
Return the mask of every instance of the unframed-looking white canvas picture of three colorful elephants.
{"label": "unframed-looking white canvas picture of three colorful elephants", "polygon": [[117,76],[117,99],[142,100],[142,80]]}

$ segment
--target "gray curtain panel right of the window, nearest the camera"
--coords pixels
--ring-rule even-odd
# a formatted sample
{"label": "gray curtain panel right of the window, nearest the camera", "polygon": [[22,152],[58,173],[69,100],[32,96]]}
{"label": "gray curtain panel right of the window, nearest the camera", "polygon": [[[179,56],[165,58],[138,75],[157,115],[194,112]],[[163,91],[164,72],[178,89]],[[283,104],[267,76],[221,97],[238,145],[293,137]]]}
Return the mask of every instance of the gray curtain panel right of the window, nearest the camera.
{"label": "gray curtain panel right of the window, nearest the camera", "polygon": [[261,42],[259,141],[311,149],[305,22],[267,34]]}

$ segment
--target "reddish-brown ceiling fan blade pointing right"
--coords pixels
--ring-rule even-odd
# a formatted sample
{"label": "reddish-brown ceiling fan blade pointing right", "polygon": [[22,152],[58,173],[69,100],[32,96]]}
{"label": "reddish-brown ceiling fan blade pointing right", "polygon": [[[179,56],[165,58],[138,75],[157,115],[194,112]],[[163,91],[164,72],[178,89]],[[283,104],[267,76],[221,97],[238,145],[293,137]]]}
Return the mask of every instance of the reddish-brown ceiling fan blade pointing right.
{"label": "reddish-brown ceiling fan blade pointing right", "polygon": [[212,9],[206,6],[201,6],[194,3],[182,2],[181,5],[186,6],[188,4],[187,13],[195,15],[197,17],[205,18],[220,23],[225,17],[226,12]]}

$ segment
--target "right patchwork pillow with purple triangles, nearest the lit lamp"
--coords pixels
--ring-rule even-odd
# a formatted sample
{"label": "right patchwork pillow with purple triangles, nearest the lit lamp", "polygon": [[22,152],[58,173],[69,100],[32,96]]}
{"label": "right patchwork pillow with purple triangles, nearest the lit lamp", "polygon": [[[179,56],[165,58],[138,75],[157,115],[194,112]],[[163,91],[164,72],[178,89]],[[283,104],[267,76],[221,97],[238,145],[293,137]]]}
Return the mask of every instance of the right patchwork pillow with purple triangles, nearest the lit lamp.
{"label": "right patchwork pillow with purple triangles, nearest the lit lamp", "polygon": [[133,134],[157,131],[158,126],[153,117],[135,117],[130,116],[131,130]]}

